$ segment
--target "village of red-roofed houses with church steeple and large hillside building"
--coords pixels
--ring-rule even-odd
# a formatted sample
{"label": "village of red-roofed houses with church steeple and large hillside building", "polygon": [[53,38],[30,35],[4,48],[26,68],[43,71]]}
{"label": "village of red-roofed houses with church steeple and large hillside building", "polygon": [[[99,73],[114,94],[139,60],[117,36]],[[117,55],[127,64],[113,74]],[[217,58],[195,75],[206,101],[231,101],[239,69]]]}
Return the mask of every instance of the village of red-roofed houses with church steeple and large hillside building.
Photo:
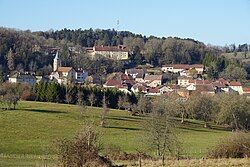
{"label": "village of red-roofed houses with church steeple and large hillside building", "polygon": [[[86,49],[90,56],[106,57],[116,61],[128,59],[126,46],[94,46]],[[201,94],[215,95],[222,92],[235,92],[250,97],[250,87],[243,87],[239,81],[227,81],[223,78],[208,80],[209,69],[202,64],[165,64],[160,68],[132,68],[113,72],[104,81],[98,74],[89,75],[88,71],[73,67],[64,67],[60,51],[57,50],[53,60],[53,71],[49,76],[36,76],[32,73],[16,73],[9,76],[11,83],[28,83],[31,87],[39,82],[74,83],[91,87],[118,89],[124,93],[142,93],[145,96],[160,96],[177,93],[188,98],[193,91]],[[174,77],[173,77],[174,76]]]}

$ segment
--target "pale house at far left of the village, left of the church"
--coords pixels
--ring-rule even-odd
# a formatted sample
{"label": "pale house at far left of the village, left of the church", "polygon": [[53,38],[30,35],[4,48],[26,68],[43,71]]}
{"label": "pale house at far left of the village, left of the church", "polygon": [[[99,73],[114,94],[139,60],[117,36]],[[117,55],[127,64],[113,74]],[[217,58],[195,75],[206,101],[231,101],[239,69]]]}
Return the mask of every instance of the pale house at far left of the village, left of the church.
{"label": "pale house at far left of the village, left of the church", "polygon": [[36,77],[31,74],[21,74],[16,73],[9,77],[10,83],[27,83],[30,86],[34,86],[36,84]]}

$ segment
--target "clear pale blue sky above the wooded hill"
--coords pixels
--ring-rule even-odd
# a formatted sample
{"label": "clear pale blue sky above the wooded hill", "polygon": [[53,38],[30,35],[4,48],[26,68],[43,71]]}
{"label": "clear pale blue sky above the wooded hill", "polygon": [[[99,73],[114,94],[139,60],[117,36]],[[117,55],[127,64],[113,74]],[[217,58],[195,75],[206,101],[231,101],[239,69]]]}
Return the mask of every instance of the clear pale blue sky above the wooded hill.
{"label": "clear pale blue sky above the wooded hill", "polygon": [[250,44],[250,0],[0,0],[0,27],[114,28],[211,45]]}

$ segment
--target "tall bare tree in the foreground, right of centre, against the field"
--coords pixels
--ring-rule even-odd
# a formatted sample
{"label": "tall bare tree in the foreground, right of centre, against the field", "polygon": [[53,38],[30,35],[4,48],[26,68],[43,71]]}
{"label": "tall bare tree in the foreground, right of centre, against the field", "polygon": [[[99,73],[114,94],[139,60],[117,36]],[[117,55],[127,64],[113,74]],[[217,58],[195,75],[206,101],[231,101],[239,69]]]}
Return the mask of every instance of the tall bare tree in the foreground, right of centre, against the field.
{"label": "tall bare tree in the foreground, right of centre, against the field", "polygon": [[147,143],[156,156],[162,157],[163,165],[167,153],[172,155],[178,153],[177,156],[179,156],[180,143],[173,131],[173,123],[164,106],[163,98],[157,98],[153,102],[153,110],[145,123]]}

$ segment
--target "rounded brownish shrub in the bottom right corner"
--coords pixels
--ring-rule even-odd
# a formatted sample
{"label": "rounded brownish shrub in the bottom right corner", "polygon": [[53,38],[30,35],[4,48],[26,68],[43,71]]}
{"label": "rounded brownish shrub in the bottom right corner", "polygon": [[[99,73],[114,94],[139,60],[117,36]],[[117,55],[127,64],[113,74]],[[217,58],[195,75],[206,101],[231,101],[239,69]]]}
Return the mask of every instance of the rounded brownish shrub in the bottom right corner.
{"label": "rounded brownish shrub in the bottom right corner", "polygon": [[250,156],[250,134],[235,132],[211,148],[208,158],[244,158]]}

